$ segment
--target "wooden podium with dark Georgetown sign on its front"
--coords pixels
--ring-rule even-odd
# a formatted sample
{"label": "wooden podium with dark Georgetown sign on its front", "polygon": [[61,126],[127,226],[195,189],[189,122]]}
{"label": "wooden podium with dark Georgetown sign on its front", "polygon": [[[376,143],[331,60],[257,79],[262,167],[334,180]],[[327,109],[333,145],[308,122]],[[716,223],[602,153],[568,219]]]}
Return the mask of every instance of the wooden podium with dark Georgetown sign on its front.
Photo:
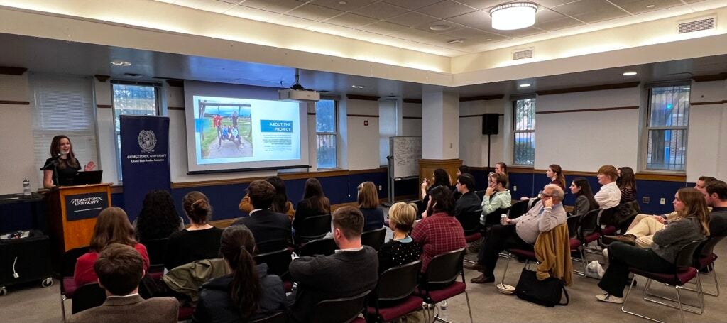
{"label": "wooden podium with dark Georgetown sign on its front", "polygon": [[110,206],[111,183],[54,188],[48,218],[55,255],[89,245],[99,212]]}

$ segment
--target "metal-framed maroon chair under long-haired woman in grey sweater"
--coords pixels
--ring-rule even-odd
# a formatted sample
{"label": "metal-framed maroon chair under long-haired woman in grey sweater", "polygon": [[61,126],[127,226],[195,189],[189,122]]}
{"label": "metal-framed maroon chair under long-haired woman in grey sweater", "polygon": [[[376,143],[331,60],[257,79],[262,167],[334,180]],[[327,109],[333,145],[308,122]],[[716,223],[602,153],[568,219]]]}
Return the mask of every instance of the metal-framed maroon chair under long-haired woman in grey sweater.
{"label": "metal-framed maroon chair under long-haired woman in grey sweater", "polygon": [[[693,242],[690,242],[686,244],[684,247],[681,247],[677,254],[676,263],[674,266],[674,271],[672,274],[662,274],[662,273],[652,273],[649,271],[644,271],[639,268],[630,267],[629,271],[631,271],[635,275],[643,276],[647,279],[646,285],[643,288],[643,300],[652,302],[652,303],[658,303],[665,306],[669,306],[671,308],[678,308],[679,314],[681,316],[681,322],[684,322],[684,311],[689,311],[691,313],[696,314],[702,314],[704,312],[704,295],[702,295],[702,283],[699,281],[699,270],[692,267],[694,265],[694,252],[699,247],[700,244],[704,242],[704,239],[702,240],[696,240]],[[683,305],[689,305],[684,302],[682,302],[679,290],[684,289],[683,284],[686,284],[687,282],[691,281],[692,279],[696,278],[696,292],[697,292],[697,298],[699,298],[699,306],[694,306],[695,308],[698,308],[698,311],[692,310],[691,308],[683,308]],[[649,287],[651,287],[651,282],[656,281],[663,284],[667,284],[668,286],[674,287],[677,291],[677,299],[674,300],[672,298],[665,298],[662,296],[654,295],[649,292]],[[627,311],[626,306],[628,303],[629,295],[631,293],[631,290],[634,287],[634,282],[636,282],[636,279],[631,280],[631,284],[629,286],[629,290],[626,292],[626,295],[624,296],[624,303],[621,306],[621,311],[627,314],[631,314],[634,316],[639,316],[643,319],[649,319],[654,322],[661,322],[656,319],[652,319],[651,317],[644,316],[642,314],[638,314],[632,311]],[[648,298],[647,295],[656,296],[659,299],[662,300],[670,300],[673,303],[677,303],[677,306],[674,306],[670,303],[664,303],[660,300],[655,300],[654,298]]]}

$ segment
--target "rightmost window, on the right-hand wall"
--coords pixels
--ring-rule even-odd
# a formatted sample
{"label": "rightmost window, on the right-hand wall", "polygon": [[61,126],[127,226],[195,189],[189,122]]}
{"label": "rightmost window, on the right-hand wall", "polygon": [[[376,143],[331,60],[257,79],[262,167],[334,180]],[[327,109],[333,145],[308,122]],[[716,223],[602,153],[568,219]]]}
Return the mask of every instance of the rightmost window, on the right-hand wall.
{"label": "rightmost window, on the right-hand wall", "polygon": [[654,87],[646,116],[646,169],[684,170],[689,124],[689,87]]}

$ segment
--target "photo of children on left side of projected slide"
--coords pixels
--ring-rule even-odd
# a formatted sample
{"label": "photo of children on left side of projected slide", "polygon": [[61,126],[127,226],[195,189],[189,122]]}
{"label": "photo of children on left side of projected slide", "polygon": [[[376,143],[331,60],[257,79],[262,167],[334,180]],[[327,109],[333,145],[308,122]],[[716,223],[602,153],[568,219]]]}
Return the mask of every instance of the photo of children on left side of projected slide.
{"label": "photo of children on left side of projected slide", "polygon": [[252,157],[252,113],[246,103],[199,100],[202,159]]}

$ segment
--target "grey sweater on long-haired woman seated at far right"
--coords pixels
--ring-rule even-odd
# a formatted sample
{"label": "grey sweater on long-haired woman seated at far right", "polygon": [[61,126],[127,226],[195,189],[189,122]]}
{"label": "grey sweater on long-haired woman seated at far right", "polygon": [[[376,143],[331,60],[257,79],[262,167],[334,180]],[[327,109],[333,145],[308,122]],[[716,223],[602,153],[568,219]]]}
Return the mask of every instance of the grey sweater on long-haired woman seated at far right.
{"label": "grey sweater on long-haired woman seated at far right", "polygon": [[654,234],[651,250],[670,263],[676,263],[679,250],[689,242],[704,239],[702,224],[694,217],[670,222],[663,230]]}

